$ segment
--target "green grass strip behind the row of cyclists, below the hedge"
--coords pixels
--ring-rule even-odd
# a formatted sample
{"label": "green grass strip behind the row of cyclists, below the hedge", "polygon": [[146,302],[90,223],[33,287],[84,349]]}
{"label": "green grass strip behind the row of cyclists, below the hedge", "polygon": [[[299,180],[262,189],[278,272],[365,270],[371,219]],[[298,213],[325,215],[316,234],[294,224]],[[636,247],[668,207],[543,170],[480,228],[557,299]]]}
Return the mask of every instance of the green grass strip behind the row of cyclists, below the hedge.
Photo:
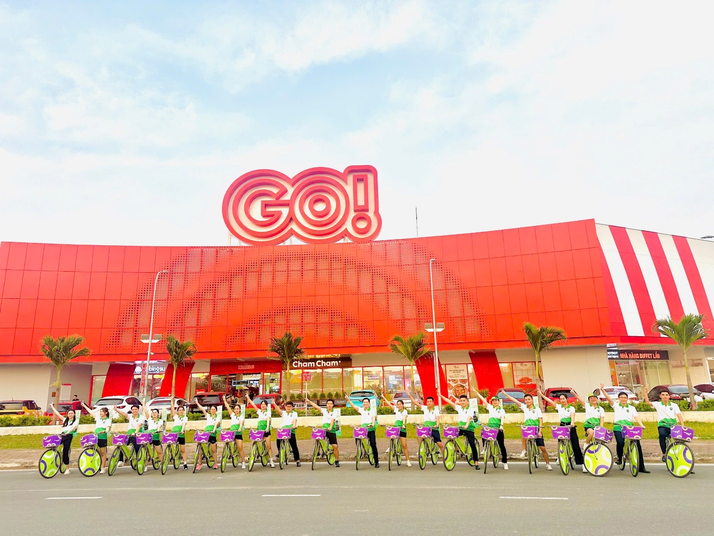
{"label": "green grass strip behind the row of cyclists, below the hedge", "polygon": [[[700,440],[714,440],[714,423],[712,422],[688,422],[689,427],[693,427],[695,430],[695,436]],[[648,423],[643,430],[643,439],[645,440],[656,440],[658,438],[657,425],[654,422]],[[311,438],[311,427],[299,427],[296,435],[298,440],[309,440]],[[518,425],[506,425],[504,427],[504,433],[506,439],[517,440],[521,438],[521,427]],[[408,437],[416,437],[416,427],[414,425],[407,425],[407,435]],[[578,425],[578,435],[580,437],[585,437],[585,431],[583,430],[583,425]],[[276,432],[273,430],[272,434],[273,441],[276,437]],[[248,439],[248,433],[245,434],[246,441]],[[350,439],[352,435],[351,426],[342,427],[342,439]],[[377,428],[377,437],[384,437],[384,427],[380,426]],[[545,437],[550,437],[550,430],[545,430]],[[193,431],[186,432],[186,442],[193,442]],[[111,443],[110,443],[111,445]],[[42,435],[32,434],[32,435],[0,435],[0,449],[41,449],[42,448]],[[79,436],[72,442],[73,449],[79,449]]]}

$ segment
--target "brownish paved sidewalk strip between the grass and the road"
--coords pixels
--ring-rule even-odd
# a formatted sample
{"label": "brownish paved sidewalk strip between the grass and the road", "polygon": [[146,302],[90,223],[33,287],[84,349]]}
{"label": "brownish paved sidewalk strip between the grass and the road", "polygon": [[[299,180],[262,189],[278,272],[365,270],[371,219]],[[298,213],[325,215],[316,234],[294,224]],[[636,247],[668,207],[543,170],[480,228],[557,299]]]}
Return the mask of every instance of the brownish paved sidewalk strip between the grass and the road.
{"label": "brownish paved sidewalk strip between the grass and the road", "polygon": [[[248,455],[249,442],[244,442],[244,452],[246,456]],[[189,443],[186,445],[186,454],[189,460],[193,459],[193,452],[195,452],[196,447]],[[300,458],[303,462],[310,461],[313,452],[313,446],[315,442],[313,440],[299,440],[298,449],[300,450]],[[418,440],[408,439],[407,445],[409,447],[410,459],[414,462],[418,455]],[[480,447],[483,445],[479,443]],[[550,455],[551,462],[555,460],[555,442],[553,440],[548,440],[545,442],[546,448],[548,449],[548,455]],[[657,440],[642,440],[641,445],[643,448],[643,455],[645,457],[645,462],[658,462],[662,463],[662,453],[660,452],[660,444]],[[273,440],[273,455],[277,454],[276,445]],[[377,447],[379,450],[379,457],[381,460],[386,460],[386,454],[384,451],[387,450],[389,442],[386,439],[378,439]],[[615,443],[613,442],[610,446],[610,450],[615,452]],[[694,455],[695,461],[699,463],[714,462],[714,440],[695,440],[690,444]],[[108,451],[111,454],[113,447],[109,447]],[[352,438],[339,439],[338,448],[340,451],[340,461],[349,462],[355,459],[355,442]],[[518,460],[518,455],[521,454],[521,441],[520,440],[506,440],[506,450],[508,451],[509,460]],[[37,462],[40,455],[42,454],[42,449],[5,449],[0,450],[0,469],[23,469],[30,467],[37,467]],[[70,455],[70,465],[76,466],[77,455],[79,455],[80,449],[73,449]],[[220,447],[218,449],[218,455],[220,455]],[[441,458],[440,461],[441,463]]]}

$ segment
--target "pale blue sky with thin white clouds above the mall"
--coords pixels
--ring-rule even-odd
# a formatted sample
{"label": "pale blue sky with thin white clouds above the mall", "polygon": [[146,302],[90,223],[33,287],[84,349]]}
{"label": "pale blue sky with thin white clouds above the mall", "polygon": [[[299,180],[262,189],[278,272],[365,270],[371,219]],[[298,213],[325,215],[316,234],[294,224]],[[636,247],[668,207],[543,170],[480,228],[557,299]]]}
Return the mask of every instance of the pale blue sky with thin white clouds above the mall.
{"label": "pale blue sky with thin white clouds above the mall", "polygon": [[380,239],[714,234],[713,11],[0,1],[0,240],[226,245],[236,177],[357,164]]}

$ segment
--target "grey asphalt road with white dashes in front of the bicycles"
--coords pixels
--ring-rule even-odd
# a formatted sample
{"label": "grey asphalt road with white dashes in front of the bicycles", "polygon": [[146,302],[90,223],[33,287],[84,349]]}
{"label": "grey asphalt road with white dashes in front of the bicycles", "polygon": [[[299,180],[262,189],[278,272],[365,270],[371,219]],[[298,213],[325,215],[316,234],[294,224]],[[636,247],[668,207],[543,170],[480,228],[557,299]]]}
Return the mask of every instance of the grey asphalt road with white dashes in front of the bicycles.
{"label": "grey asphalt road with white dashes in front of the bicycles", "polygon": [[[0,472],[0,534],[172,536],[220,532],[269,535],[662,534],[711,535],[714,465],[684,479],[663,465],[630,476],[568,477],[540,465],[476,472],[465,462],[452,472],[441,462],[388,471],[353,462],[312,471],[289,465],[149,470],[122,467],[112,477],[78,471],[43,479],[36,470]],[[294,495],[294,496],[293,496]],[[81,498],[84,497],[84,498]],[[91,497],[91,498],[89,498]]]}

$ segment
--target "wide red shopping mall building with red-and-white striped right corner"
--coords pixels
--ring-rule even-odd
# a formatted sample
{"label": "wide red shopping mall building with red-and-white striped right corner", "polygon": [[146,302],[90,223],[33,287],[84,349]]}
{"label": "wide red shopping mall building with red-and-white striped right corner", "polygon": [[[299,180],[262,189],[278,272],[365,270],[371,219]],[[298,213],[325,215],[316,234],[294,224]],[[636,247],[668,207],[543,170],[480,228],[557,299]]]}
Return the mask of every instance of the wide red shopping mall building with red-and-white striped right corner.
{"label": "wide red shopping mall building with red-and-white striped right corner", "polygon": [[[244,385],[285,392],[269,337],[303,335],[308,356],[291,391],[381,387],[433,392],[433,362],[417,374],[388,352],[393,334],[431,322],[430,259],[441,384],[483,389],[528,384],[535,374],[523,322],[565,328],[568,344],[543,355],[546,387],[587,392],[622,384],[683,382],[682,355],[651,331],[655,317],[707,316],[712,329],[714,243],[593,220],[443,237],[240,247],[0,244],[0,399],[46,407],[54,369],[45,334],[81,334],[91,357],[66,367],[64,394],[139,394],[154,277],[154,332],[192,339],[198,359],[177,392]],[[710,381],[714,342],[689,353],[695,383]],[[168,394],[163,343],[151,394]],[[608,351],[609,350],[609,351]]]}

